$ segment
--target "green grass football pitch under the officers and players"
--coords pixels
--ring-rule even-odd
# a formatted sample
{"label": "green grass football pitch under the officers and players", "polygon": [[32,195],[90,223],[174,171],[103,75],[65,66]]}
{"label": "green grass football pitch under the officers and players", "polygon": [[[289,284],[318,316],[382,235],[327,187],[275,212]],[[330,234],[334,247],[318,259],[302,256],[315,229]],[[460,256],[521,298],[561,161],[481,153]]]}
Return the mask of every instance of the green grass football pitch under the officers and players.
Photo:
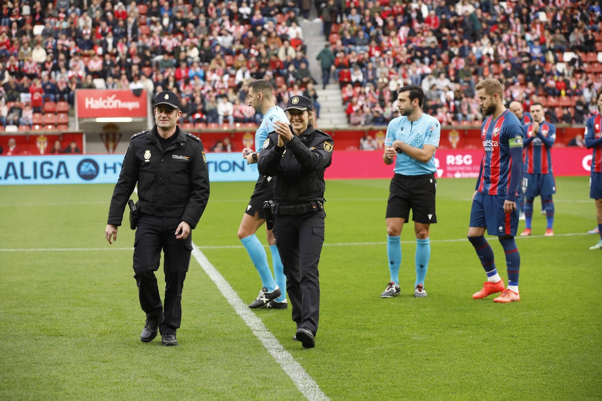
{"label": "green grass football pitch under the officers and players", "polygon": [[[412,226],[402,232],[402,294],[379,297],[389,279],[388,181],[326,187],[317,347],[291,340],[290,309],[255,313],[327,396],[602,397],[602,252],[588,249],[597,236],[582,235],[595,226],[588,178],[557,179],[556,237],[517,240],[522,300],[507,305],[471,298],[485,281],[466,240],[474,179],[439,179],[429,296],[420,299],[413,296]],[[236,236],[252,188],[253,182],[212,184],[193,231],[194,243],[245,302],[260,287]],[[0,399],[303,399],[194,258],[180,345],[141,343],[132,251],[113,249],[131,247],[133,231],[122,226],[113,246],[104,240],[112,191],[113,185],[0,187]],[[533,235],[545,231],[538,210],[536,200]],[[558,235],[573,233],[579,235]],[[265,243],[263,228],[258,238]],[[506,279],[501,246],[489,241]],[[81,250],[6,250],[65,248]],[[162,282],[161,270],[158,277]]]}

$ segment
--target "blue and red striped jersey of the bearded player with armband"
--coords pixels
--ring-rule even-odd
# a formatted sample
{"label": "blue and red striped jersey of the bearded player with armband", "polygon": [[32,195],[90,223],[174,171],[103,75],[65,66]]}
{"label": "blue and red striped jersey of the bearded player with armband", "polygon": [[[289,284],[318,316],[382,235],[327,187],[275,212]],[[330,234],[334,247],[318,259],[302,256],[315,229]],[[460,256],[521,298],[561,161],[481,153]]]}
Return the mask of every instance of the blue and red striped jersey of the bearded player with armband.
{"label": "blue and red striped jersey of the bearded player with armband", "polygon": [[[509,110],[494,120],[489,116],[481,127],[483,160],[477,190],[489,195],[506,195],[510,185],[512,159],[510,148],[523,146],[523,125]],[[516,196],[521,195],[518,185]]]}

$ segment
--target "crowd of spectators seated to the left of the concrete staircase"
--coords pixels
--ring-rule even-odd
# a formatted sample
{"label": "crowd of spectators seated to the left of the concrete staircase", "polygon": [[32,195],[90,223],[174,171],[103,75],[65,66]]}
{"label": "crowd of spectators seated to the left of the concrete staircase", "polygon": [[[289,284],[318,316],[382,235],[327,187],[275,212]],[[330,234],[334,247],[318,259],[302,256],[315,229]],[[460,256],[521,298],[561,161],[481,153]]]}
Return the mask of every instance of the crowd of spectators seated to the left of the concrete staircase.
{"label": "crowd of spectators seated to the left of the concrete staircase", "polygon": [[129,88],[175,92],[182,123],[258,123],[245,104],[254,79],[271,81],[281,105],[315,82],[299,26],[313,4],[4,1],[0,122],[31,125],[47,101],[73,105],[79,88]]}

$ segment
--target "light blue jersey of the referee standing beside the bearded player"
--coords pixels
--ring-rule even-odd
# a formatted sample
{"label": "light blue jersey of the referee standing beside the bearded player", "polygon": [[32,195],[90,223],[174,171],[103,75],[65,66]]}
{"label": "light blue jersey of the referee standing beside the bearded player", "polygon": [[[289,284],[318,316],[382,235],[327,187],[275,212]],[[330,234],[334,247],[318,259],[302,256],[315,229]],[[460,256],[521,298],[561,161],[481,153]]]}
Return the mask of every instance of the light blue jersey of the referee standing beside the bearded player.
{"label": "light blue jersey of the referee standing beside the bearded player", "polygon": [[[399,139],[414,148],[422,149],[424,145],[433,145],[439,148],[440,136],[441,124],[435,117],[422,113],[417,121],[408,121],[408,117],[401,116],[389,122],[389,126],[386,128],[385,146],[391,146],[393,141]],[[397,154],[396,174],[422,175],[436,171],[435,154],[427,163],[411,158],[405,153]]]}

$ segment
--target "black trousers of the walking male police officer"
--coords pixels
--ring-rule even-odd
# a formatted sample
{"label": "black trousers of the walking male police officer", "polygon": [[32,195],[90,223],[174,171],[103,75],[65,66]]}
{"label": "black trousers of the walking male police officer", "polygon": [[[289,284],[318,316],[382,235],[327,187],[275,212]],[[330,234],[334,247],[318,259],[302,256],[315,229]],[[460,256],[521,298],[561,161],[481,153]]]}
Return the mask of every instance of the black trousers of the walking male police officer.
{"label": "black trousers of the walking male police officer", "polygon": [[[146,319],[160,322],[161,334],[176,334],[182,319],[182,288],[190,264],[192,233],[185,240],[176,240],[176,228],[181,222],[180,217],[142,214],[134,240],[134,278],[140,306],[146,312]],[[154,273],[159,269],[161,249],[164,253],[164,305],[161,305]]]}

